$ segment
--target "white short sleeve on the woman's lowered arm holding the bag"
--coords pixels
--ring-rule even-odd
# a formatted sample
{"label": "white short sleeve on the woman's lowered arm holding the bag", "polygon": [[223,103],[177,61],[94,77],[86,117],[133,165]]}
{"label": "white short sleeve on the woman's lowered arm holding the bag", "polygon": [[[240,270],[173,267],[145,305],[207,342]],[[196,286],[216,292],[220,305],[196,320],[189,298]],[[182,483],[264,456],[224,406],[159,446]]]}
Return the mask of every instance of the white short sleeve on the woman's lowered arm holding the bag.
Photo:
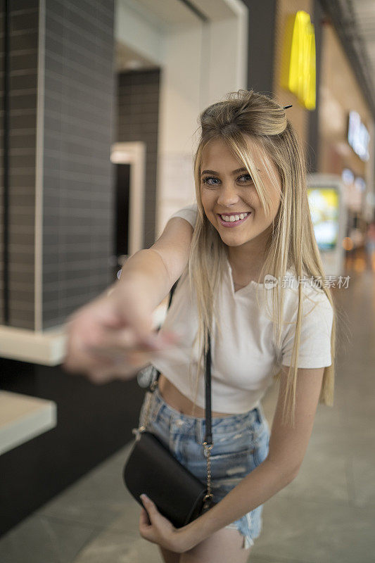
{"label": "white short sleeve on the woman's lowered arm holding the bag", "polygon": [[[295,334],[294,322],[286,324],[281,348],[281,364],[290,366]],[[314,303],[305,299],[301,322],[298,367],[326,367],[331,365],[331,330],[333,308],[326,294],[314,297]]]}

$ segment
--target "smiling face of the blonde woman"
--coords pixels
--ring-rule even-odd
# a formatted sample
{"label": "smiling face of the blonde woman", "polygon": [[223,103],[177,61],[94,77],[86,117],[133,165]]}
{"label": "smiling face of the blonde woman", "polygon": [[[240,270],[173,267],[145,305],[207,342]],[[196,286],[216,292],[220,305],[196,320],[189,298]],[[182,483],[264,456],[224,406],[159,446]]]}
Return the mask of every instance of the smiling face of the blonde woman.
{"label": "smiling face of the blonde woman", "polygon": [[[227,246],[246,245],[250,250],[253,249],[254,244],[262,246],[267,240],[269,229],[272,229],[272,221],[277,215],[280,204],[281,180],[277,167],[268,159],[274,177],[277,177],[279,182],[275,188],[267,170],[262,170],[258,151],[255,150],[254,141],[250,137],[248,137],[248,146],[250,150],[252,147],[254,149],[253,160],[267,189],[270,215],[265,215],[253,179],[246,168],[234,158],[221,139],[210,141],[205,147],[201,165],[201,198],[205,215],[219,232],[222,241]],[[230,216],[241,213],[248,215],[242,220],[241,217],[240,219],[236,217],[236,221],[233,222],[234,217]],[[231,222],[222,220],[223,214],[230,217]]]}

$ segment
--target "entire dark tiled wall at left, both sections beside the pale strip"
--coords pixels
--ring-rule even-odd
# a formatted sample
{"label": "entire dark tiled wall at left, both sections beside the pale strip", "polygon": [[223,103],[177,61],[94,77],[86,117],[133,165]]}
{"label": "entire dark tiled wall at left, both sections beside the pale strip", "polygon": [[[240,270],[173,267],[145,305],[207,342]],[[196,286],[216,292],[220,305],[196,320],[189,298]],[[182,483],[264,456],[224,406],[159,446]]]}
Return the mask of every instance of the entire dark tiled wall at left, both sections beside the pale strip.
{"label": "entire dark tiled wall at left, both sections beside the pale strip", "polygon": [[[45,35],[42,329],[113,281],[113,0],[13,0],[10,68],[9,310],[34,329],[39,20]],[[44,6],[45,5],[45,6]],[[44,13],[45,9],[45,13]],[[0,4],[1,31],[4,2]],[[0,40],[3,49],[3,40]],[[4,71],[4,53],[1,53]],[[44,72],[43,72],[44,67]],[[1,75],[1,84],[4,73]],[[3,108],[1,97],[1,108]],[[1,127],[3,114],[1,113]],[[1,135],[1,141],[3,135]],[[2,144],[1,144],[2,150]],[[2,156],[2,155],[1,155]],[[2,163],[1,163],[2,165]],[[1,203],[3,196],[1,173]],[[1,209],[1,221],[3,213]],[[0,236],[3,225],[0,225]],[[0,239],[1,249],[3,248]],[[0,315],[4,312],[0,258]],[[4,316],[0,323],[4,323]]]}

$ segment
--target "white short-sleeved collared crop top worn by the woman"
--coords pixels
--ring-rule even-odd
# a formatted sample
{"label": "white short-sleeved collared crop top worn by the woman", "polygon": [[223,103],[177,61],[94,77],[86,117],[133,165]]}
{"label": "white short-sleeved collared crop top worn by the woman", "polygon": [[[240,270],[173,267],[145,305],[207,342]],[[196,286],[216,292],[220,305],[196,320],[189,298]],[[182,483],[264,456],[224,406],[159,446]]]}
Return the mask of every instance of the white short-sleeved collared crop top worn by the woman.
{"label": "white short-sleeved collared crop top worn by the woman", "polygon": [[[194,228],[197,204],[187,205],[172,217],[183,217]],[[288,272],[288,276],[291,273]],[[295,321],[298,306],[298,283],[292,277],[292,287],[287,287],[284,297],[284,322]],[[258,406],[273,375],[280,366],[291,365],[295,324],[285,324],[281,348],[274,344],[272,320],[258,306],[255,289],[257,282],[234,291],[231,266],[227,260],[224,282],[217,295],[223,339],[212,325],[211,337],[211,393],[212,411],[238,414]],[[263,284],[260,284],[263,285]],[[333,310],[325,293],[305,284],[303,292],[314,299],[303,302],[303,320],[300,336],[298,367],[325,367],[331,365],[331,328]],[[262,303],[262,289],[259,297]],[[265,291],[271,295],[272,291]],[[270,301],[271,303],[271,301]],[[270,308],[272,312],[272,306]],[[305,316],[306,315],[306,316]],[[151,364],[169,379],[181,393],[194,400],[196,393],[196,367],[198,365],[198,331],[196,301],[189,289],[186,266],[174,291],[172,303],[160,331],[177,331],[183,335],[183,348],[174,350],[170,358],[153,358]],[[218,340],[220,339],[220,341]],[[189,362],[191,378],[189,380]],[[205,407],[204,376],[198,381],[196,404]]]}

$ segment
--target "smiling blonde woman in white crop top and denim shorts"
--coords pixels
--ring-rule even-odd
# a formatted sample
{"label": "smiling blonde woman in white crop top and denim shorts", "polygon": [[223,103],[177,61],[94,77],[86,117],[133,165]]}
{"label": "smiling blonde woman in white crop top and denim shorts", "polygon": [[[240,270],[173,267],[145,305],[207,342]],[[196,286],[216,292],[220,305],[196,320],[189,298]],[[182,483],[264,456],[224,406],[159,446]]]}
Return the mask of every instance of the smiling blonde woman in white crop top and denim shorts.
{"label": "smiling blonde woman in white crop top and denim shorts", "polygon": [[[210,330],[219,502],[175,529],[144,499],[150,521],[142,509],[139,531],[166,563],[240,563],[260,535],[263,503],[298,474],[319,400],[333,404],[336,321],[310,219],[305,156],[286,110],[239,90],[200,120],[196,202],[127,260],[109,296],[72,316],[65,368],[103,382],[129,379],[152,363],[160,378],[150,429],[205,482]],[[152,312],[177,280],[155,336]],[[175,334],[183,346],[163,355]],[[106,353],[117,353],[117,362]],[[260,401],[274,379],[279,398],[269,431]]]}

